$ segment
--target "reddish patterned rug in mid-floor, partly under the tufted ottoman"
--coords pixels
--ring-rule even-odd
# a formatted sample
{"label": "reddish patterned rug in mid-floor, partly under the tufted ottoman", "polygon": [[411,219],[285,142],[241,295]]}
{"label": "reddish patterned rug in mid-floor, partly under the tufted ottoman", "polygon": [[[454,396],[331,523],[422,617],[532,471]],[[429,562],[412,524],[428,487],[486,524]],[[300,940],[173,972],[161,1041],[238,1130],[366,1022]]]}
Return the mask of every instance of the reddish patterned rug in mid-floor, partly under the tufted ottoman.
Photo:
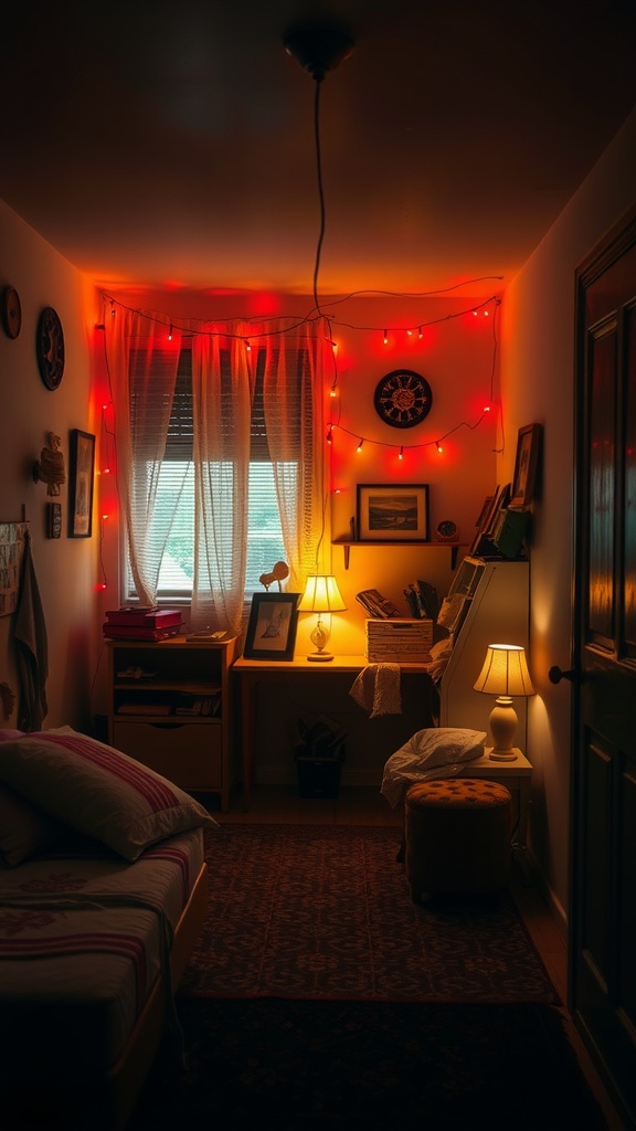
{"label": "reddish patterned rug in mid-floor, partly under the tufted ottoman", "polygon": [[396,829],[222,824],[181,998],[559,1003],[512,897],[415,905]]}

